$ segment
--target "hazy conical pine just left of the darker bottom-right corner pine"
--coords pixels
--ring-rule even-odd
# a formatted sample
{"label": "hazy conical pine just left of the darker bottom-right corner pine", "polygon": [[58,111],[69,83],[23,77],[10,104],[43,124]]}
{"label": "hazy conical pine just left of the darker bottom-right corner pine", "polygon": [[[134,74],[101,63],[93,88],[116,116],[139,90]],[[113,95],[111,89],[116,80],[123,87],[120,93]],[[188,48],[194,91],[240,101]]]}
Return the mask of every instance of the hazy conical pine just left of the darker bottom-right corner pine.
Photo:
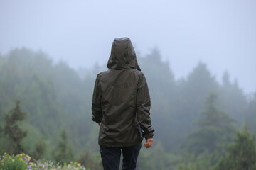
{"label": "hazy conical pine just left of the darker bottom-right corner pine", "polygon": [[215,93],[206,98],[206,108],[197,122],[198,129],[192,132],[183,144],[188,152],[196,156],[206,150],[210,154],[216,151],[224,154],[225,145],[232,141],[235,133],[233,119],[215,106],[217,98]]}

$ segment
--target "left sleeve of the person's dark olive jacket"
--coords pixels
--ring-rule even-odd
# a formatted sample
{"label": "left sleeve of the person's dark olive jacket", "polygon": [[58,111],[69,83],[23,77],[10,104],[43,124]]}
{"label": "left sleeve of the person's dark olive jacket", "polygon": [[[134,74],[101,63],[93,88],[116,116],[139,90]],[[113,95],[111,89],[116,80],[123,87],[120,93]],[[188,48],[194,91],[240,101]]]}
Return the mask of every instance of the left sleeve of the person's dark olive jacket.
{"label": "left sleeve of the person's dark olive jacket", "polygon": [[101,98],[100,74],[98,74],[92,95],[92,120],[97,123],[100,123],[102,120]]}

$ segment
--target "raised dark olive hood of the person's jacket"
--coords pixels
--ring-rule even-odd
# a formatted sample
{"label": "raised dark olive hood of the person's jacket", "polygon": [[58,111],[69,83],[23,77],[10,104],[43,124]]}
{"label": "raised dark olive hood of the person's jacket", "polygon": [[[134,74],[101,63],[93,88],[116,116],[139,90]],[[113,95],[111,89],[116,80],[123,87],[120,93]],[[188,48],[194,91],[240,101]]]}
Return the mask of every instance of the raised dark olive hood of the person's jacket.
{"label": "raised dark olive hood of the person's jacket", "polygon": [[110,59],[107,62],[109,69],[139,68],[136,53],[129,38],[115,38],[112,43]]}

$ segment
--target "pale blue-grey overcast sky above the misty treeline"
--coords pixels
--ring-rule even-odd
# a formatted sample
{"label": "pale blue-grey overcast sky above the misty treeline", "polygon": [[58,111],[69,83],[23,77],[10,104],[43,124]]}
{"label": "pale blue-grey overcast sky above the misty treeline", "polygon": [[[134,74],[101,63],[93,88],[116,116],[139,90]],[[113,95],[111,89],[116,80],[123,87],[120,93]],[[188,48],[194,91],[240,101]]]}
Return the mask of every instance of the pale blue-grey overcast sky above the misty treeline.
{"label": "pale blue-grey overcast sky above the misty treeline", "polygon": [[27,47],[92,67],[107,64],[112,40],[124,36],[140,55],[158,47],[176,79],[201,61],[217,79],[228,70],[256,91],[255,0],[0,0],[2,55]]}

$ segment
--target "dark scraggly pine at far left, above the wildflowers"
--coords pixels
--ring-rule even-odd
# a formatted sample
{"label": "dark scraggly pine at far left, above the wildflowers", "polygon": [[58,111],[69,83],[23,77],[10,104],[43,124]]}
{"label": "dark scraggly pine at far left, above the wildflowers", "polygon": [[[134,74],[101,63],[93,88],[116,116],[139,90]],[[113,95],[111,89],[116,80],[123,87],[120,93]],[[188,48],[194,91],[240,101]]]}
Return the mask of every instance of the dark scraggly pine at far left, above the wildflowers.
{"label": "dark scraggly pine at far left, above the wildflowers", "polygon": [[9,111],[9,114],[5,116],[6,125],[4,126],[4,135],[9,140],[9,153],[20,154],[24,152],[22,140],[26,137],[27,132],[23,132],[18,126],[18,121],[22,121],[26,118],[26,113],[21,111],[20,101],[16,101],[14,109]]}

